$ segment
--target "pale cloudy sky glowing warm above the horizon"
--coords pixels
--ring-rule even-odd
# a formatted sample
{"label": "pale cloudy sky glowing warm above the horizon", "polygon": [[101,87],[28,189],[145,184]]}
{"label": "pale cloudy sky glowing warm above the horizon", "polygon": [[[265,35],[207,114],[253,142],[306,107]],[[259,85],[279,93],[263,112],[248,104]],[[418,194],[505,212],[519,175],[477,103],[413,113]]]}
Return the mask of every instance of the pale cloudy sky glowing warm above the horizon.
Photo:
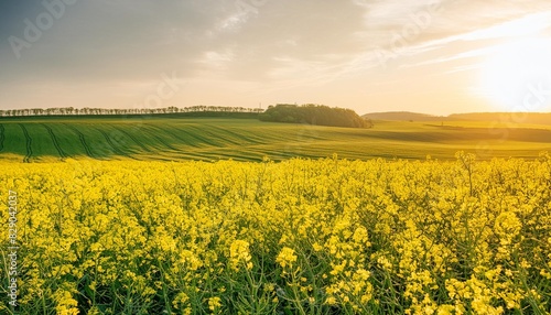
{"label": "pale cloudy sky glowing warm above the horizon", "polygon": [[0,109],[551,110],[548,0],[0,2]]}

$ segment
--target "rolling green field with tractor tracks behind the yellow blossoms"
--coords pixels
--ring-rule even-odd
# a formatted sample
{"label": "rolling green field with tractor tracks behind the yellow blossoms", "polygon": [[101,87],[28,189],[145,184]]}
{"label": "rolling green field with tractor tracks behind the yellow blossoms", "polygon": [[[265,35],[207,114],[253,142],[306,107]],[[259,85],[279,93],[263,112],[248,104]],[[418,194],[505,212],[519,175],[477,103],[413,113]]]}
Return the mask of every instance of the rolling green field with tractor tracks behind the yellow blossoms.
{"label": "rolling green field with tractor tracks behind the yellow blossoms", "polygon": [[1,118],[0,160],[274,161],[293,156],[367,160],[454,159],[457,151],[538,156],[551,151],[551,127],[491,122],[376,121],[372,129],[260,122],[234,118]]}

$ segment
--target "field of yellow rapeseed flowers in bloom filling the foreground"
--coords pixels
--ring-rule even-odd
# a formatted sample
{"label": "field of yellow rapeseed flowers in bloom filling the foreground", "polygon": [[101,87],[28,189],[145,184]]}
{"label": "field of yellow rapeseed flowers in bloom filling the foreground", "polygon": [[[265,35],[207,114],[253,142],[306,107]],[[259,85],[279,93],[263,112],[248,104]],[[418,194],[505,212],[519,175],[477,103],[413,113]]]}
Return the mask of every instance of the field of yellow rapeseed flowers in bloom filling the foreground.
{"label": "field of yellow rapeseed flowers in bloom filling the foreground", "polygon": [[550,314],[548,154],[0,165],[1,314]]}

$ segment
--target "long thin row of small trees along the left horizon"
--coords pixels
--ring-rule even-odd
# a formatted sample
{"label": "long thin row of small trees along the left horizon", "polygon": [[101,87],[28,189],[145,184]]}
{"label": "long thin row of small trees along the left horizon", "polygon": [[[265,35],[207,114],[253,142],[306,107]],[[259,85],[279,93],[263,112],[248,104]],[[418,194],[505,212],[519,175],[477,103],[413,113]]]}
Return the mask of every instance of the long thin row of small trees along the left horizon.
{"label": "long thin row of small trees along the left horizon", "polygon": [[165,108],[74,108],[74,107],[56,107],[56,108],[31,108],[31,109],[8,109],[0,110],[0,117],[18,117],[18,116],[84,116],[84,115],[159,115],[159,113],[180,113],[180,112],[248,112],[260,113],[263,110],[260,108],[245,107],[224,107],[224,106],[191,106],[191,107],[165,107]]}

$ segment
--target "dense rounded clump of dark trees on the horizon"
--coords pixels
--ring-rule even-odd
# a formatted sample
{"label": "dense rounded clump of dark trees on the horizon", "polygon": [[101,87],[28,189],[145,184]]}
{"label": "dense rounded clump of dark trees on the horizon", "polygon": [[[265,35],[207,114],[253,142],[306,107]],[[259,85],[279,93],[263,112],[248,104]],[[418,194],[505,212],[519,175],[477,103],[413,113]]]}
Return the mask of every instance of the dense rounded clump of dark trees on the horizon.
{"label": "dense rounded clump of dark trees on the horizon", "polygon": [[323,105],[306,104],[302,106],[278,104],[260,113],[262,121],[309,123],[333,127],[370,128],[370,123],[354,110],[331,108]]}

